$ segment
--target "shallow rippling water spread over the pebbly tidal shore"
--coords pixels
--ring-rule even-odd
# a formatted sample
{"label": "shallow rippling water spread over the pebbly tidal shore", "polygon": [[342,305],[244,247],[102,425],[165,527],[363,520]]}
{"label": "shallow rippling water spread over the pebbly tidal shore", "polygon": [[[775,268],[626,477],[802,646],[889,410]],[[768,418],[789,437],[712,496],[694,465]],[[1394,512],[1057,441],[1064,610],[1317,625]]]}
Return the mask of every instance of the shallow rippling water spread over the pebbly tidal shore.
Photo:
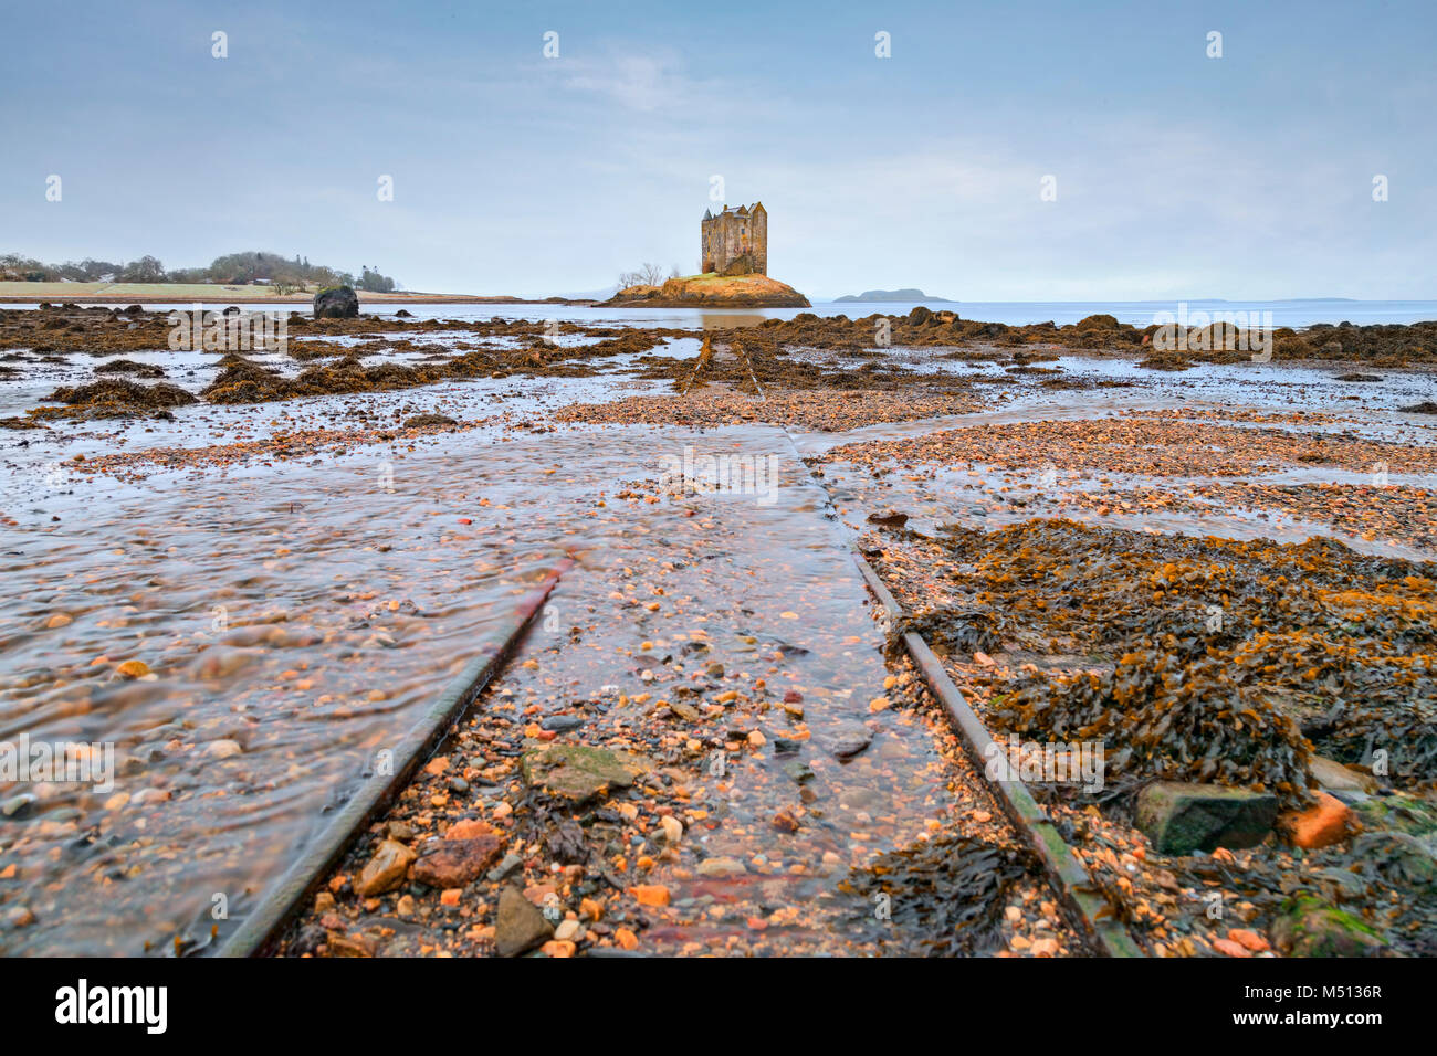
{"label": "shallow rippling water spread over the pebbly tidal shore", "polygon": [[[522,307],[430,310],[431,318],[533,318],[533,306]],[[460,309],[479,312],[464,316]],[[713,313],[691,315],[675,322],[673,312],[660,310],[632,320],[713,323]],[[598,318],[616,322],[612,315]],[[691,356],[697,349],[696,339],[683,338],[657,352]],[[187,388],[203,386],[204,371],[213,371],[208,355],[191,362],[184,353],[155,353],[155,361]],[[0,740],[24,733],[32,740],[114,744],[119,767],[115,789],[106,792],[45,783],[0,787],[0,802],[34,796],[0,828],[0,861],[17,865],[16,901],[37,918],[6,932],[0,950],[105,954],[139,953],[149,944],[168,951],[177,935],[185,948],[198,948],[211,925],[223,938],[320,830],[326,812],[372,766],[375,753],[503,632],[513,599],[569,553],[579,556],[579,568],[553,599],[565,625],[570,606],[602,608],[609,580],[627,563],[668,560],[688,611],[714,611],[710,632],[731,657],[760,648],[785,654],[783,677],[802,685],[809,701],[815,769],[829,806],[825,823],[773,845],[775,869],[813,866],[825,853],[845,866],[861,865],[871,853],[907,845],[950,806],[930,734],[867,711],[885,668],[848,545],[865,527],[869,499],[892,504],[907,496],[933,527],[979,506],[989,524],[1030,517],[1025,507],[994,513],[984,496],[984,488],[1012,483],[1013,474],[979,467],[977,477],[921,487],[894,474],[881,494],[856,500],[854,493],[868,483],[835,474],[828,484],[839,506],[862,506],[862,516],[845,509],[852,526],[845,527],[829,520],[825,491],[773,427],[703,434],[566,427],[532,435],[496,424],[293,461],[259,458],[124,480],[73,463],[76,454],[198,450],[302,428],[374,427],[430,411],[463,421],[509,415],[542,424],[549,409],[568,402],[671,391],[667,382],[627,376],[627,361],[604,365],[615,369],[592,378],[473,379],[257,407],[198,405],[177,408],[172,421],[60,422],[47,434],[0,434],[0,513],[14,520],[0,527],[0,590],[7,599],[0,613]],[[1059,365],[1095,378],[1134,374],[1115,361],[1063,358]],[[55,369],[43,385],[0,382],[0,401],[11,408],[0,412],[33,405],[39,388],[70,384],[79,368]],[[981,414],[848,434],[790,432],[810,455],[855,440],[963,424],[1244,404],[1338,412],[1339,424],[1311,428],[1431,443],[1430,422],[1392,409],[1420,394],[1430,375],[1391,372],[1381,385],[1361,386],[1335,382],[1321,369],[1201,366],[1155,381],[1141,374],[1142,388],[1104,391],[1045,391],[1012,379],[1000,389],[1006,395],[994,392],[1000,407]],[[1359,401],[1342,399],[1354,392]],[[714,454],[777,454],[783,477],[776,501],[710,496],[700,500],[701,509],[717,527],[700,532],[681,506],[635,511],[614,500],[634,481],[654,481],[662,455],[690,444]],[[1318,467],[1277,476],[1342,478]],[[1397,474],[1394,481],[1437,483]],[[1226,510],[1105,520],[1129,522],[1242,537],[1298,539],[1313,530],[1292,519],[1279,529]],[[56,616],[69,622],[49,626]],[[628,613],[599,641],[631,648],[645,636],[662,639],[678,622],[677,613]],[[632,662],[602,652],[558,657],[545,675],[572,684],[575,693],[638,672]],[[152,678],[121,674],[129,659],[148,665]],[[523,685],[527,675],[513,678]],[[875,727],[871,754],[849,764],[826,759],[825,744],[855,721]],[[239,754],[211,747],[220,741],[234,741]],[[763,828],[787,803],[793,783],[785,761],[770,753],[744,763],[724,806],[733,825]],[[783,882],[819,897],[831,891],[832,875],[815,868],[805,879]],[[706,891],[721,895],[721,885]],[[217,895],[224,918],[214,915]],[[696,922],[665,941],[678,945],[706,934]]]}

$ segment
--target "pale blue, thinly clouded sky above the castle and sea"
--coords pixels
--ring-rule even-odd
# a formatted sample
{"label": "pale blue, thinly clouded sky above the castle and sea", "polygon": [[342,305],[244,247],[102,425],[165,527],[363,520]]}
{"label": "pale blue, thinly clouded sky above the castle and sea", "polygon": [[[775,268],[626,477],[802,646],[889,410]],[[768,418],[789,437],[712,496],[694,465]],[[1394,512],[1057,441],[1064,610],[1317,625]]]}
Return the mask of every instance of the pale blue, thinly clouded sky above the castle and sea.
{"label": "pale blue, thinly clouded sky above the castle and sea", "polygon": [[546,296],[721,191],[816,300],[1437,299],[1434,56],[1433,0],[7,4],[0,253]]}

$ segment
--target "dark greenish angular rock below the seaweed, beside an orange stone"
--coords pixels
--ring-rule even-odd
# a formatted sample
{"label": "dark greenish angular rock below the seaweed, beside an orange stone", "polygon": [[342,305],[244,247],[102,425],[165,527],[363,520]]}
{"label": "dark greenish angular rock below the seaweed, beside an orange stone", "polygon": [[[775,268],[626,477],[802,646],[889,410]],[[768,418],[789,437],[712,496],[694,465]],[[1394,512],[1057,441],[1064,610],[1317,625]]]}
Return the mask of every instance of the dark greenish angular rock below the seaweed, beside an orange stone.
{"label": "dark greenish angular rock below the seaweed, beside an orange stone", "polygon": [[1266,792],[1157,782],[1138,793],[1138,829],[1163,855],[1257,846],[1276,819],[1277,797]]}

